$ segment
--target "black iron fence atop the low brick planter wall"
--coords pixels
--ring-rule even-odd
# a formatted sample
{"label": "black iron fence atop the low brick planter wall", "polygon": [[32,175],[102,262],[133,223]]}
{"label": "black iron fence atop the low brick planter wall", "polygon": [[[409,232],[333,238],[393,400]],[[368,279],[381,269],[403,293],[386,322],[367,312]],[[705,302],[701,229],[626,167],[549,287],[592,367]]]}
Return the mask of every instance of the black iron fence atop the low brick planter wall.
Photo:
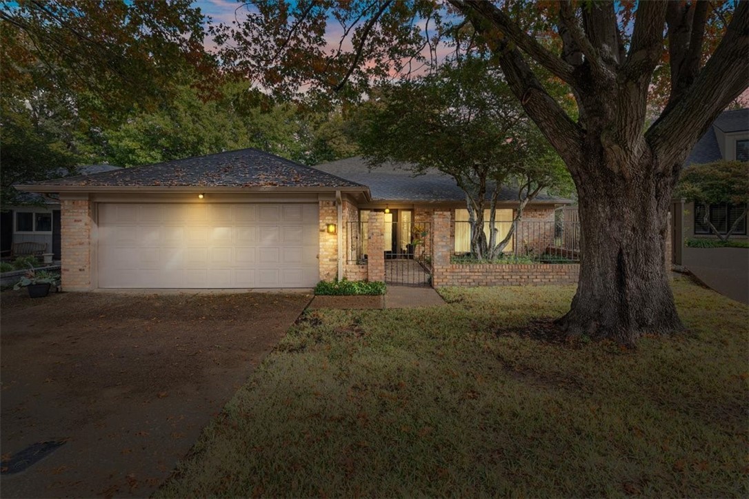
{"label": "black iron fence atop the low brick planter wall", "polygon": [[[495,242],[499,244],[515,227],[512,238],[496,260],[508,262],[577,263],[580,261],[580,222],[565,221],[495,221],[484,223],[487,242],[491,230],[495,231]],[[469,221],[455,221],[453,237],[453,260],[474,260],[471,254],[472,227]]]}

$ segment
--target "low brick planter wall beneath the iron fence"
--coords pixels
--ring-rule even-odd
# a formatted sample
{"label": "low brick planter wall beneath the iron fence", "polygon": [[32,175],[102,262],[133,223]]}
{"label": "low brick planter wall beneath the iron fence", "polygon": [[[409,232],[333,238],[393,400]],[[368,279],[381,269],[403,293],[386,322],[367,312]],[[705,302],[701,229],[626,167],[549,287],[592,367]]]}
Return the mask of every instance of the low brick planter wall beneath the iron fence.
{"label": "low brick planter wall beneath the iron fence", "polygon": [[577,263],[466,264],[451,263],[435,266],[434,287],[443,286],[539,286],[545,284],[576,284],[580,275]]}

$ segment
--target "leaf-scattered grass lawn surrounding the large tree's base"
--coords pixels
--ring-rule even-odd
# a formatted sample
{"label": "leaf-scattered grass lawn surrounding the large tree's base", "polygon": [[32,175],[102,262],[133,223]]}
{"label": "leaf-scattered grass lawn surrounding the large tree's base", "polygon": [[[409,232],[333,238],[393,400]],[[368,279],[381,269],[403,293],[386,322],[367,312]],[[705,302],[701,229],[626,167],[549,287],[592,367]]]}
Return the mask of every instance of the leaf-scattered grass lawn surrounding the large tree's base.
{"label": "leaf-scattered grass lawn surrounding the large tree's base", "polygon": [[674,281],[680,337],[544,339],[574,287],[309,312],[158,495],[749,494],[749,307]]}

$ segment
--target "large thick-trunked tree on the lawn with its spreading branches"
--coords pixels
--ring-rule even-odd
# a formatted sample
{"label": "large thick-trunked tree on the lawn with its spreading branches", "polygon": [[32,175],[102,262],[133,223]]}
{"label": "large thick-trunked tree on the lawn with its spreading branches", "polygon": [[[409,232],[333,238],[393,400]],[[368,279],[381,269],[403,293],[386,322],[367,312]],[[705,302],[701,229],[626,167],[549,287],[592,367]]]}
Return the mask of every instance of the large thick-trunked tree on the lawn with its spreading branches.
{"label": "large thick-trunked tree on the lawn with its spreading branches", "polygon": [[[440,34],[456,50],[491,52],[577,187],[583,257],[560,326],[622,343],[683,328],[664,266],[668,207],[688,151],[747,88],[748,1],[246,4],[246,22],[219,30],[222,57],[279,91],[357,95],[437,60]],[[341,43],[330,48],[326,31]],[[576,116],[537,68],[568,86]],[[667,97],[649,123],[657,70]]]}

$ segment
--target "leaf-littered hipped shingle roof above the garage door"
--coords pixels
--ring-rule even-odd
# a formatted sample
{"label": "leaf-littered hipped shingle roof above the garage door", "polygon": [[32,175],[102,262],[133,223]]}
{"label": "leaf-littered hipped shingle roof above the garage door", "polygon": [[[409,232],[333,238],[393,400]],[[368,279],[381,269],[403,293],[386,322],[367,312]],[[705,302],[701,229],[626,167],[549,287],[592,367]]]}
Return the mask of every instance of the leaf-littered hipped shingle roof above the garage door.
{"label": "leaf-littered hipped shingle roof above the garage door", "polygon": [[256,149],[105,171],[29,184],[47,187],[327,187],[365,186]]}

